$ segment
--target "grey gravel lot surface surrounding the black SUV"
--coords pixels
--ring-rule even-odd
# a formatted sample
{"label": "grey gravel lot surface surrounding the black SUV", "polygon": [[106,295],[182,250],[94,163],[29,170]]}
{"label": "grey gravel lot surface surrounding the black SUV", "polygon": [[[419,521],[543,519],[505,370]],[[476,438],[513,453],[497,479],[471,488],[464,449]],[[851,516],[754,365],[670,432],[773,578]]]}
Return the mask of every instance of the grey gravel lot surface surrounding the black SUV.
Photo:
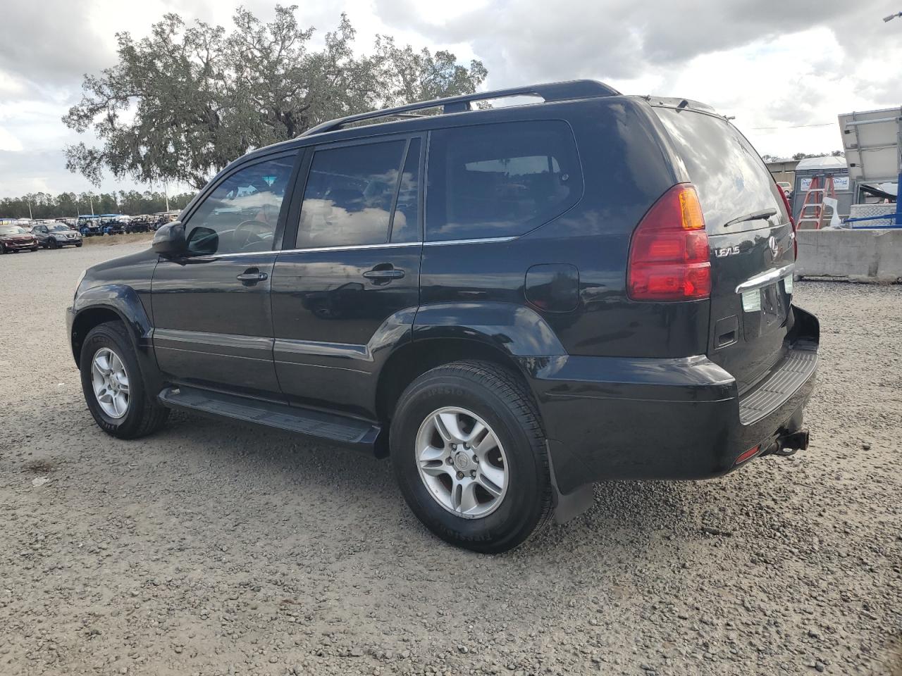
{"label": "grey gravel lot surface surrounding the black SUV", "polygon": [[189,416],[102,434],[63,310],[137,249],[0,258],[0,673],[902,674],[902,287],[797,284],[809,451],[599,485],[488,557],[386,462]]}

